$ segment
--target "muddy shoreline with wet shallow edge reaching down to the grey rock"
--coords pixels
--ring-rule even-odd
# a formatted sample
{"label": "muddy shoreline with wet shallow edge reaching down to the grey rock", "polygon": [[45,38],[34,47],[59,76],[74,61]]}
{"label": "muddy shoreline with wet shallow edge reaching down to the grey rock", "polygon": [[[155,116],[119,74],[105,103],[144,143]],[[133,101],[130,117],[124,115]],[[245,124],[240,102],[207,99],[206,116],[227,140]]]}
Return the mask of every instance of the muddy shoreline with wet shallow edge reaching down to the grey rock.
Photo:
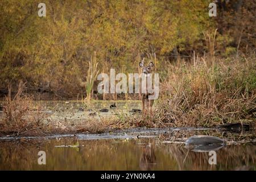
{"label": "muddy shoreline with wet shallow edge reaching down to the grey rock", "polygon": [[45,140],[56,138],[76,138],[78,140],[100,140],[100,139],[141,139],[141,138],[156,138],[166,143],[184,143],[188,137],[193,135],[214,135],[228,141],[230,144],[239,143],[254,143],[256,144],[256,134],[254,131],[237,131],[224,130],[217,128],[205,127],[180,127],[158,129],[152,128],[133,128],[122,130],[109,130],[104,133],[55,133],[48,135],[24,135],[11,136],[2,135],[0,142],[7,142],[11,140]]}

